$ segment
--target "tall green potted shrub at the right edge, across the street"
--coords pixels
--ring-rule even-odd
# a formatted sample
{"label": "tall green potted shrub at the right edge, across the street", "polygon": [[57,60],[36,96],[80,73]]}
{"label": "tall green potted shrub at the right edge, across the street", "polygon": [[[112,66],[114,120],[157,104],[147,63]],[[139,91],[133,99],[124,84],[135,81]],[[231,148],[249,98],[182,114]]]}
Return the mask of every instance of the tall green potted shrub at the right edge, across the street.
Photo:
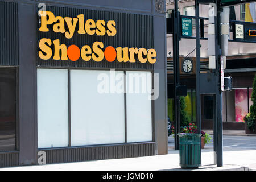
{"label": "tall green potted shrub at the right edge, across the street", "polygon": [[245,133],[256,134],[256,75],[253,80],[253,92],[251,93],[251,101],[253,105],[250,106],[250,113],[245,116]]}

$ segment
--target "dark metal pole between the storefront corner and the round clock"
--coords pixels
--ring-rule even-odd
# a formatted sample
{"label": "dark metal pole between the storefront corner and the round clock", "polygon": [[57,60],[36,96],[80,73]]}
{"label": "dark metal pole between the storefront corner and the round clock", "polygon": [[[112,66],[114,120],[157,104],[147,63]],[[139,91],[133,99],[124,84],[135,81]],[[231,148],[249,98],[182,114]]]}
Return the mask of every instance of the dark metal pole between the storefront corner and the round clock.
{"label": "dark metal pole between the storefront corner and the round clock", "polygon": [[177,0],[174,1],[175,9],[172,10],[172,19],[174,28],[172,34],[172,47],[174,52],[174,138],[175,138],[175,150],[179,150],[179,138],[177,133],[180,132],[180,105],[179,96],[177,96],[177,86],[179,85],[179,11]]}

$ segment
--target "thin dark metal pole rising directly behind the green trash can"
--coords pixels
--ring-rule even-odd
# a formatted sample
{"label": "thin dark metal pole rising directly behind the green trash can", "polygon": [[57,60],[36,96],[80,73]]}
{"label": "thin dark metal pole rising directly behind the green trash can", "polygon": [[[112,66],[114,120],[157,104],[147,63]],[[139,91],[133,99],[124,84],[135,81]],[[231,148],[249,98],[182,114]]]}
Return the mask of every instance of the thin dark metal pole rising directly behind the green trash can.
{"label": "thin dark metal pole rising directly behind the green trash can", "polygon": [[[196,122],[197,133],[201,134],[201,94],[200,94],[200,32],[199,32],[199,3],[195,1],[196,9]],[[200,147],[201,160],[201,147]],[[201,161],[200,161],[201,163]]]}

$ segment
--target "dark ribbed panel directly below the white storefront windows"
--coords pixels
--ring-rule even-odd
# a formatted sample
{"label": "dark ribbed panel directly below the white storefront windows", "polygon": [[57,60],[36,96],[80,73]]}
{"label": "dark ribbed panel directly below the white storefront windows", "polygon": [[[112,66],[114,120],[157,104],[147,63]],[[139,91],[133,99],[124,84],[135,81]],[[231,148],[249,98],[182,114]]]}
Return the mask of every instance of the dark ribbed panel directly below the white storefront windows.
{"label": "dark ribbed panel directly below the white storefront windows", "polygon": [[60,148],[46,149],[43,151],[46,152],[47,164],[67,163],[88,160],[151,156],[155,155],[155,143],[151,142],[137,144],[116,144],[112,146]]}

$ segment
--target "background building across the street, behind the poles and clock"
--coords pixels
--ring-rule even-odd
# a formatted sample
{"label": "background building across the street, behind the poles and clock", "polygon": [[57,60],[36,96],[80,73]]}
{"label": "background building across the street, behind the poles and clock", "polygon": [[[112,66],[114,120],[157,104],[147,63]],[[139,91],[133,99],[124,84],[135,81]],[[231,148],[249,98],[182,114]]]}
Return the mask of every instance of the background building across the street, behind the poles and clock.
{"label": "background building across the street, behind the poles and clock", "polygon": [[[195,16],[195,1],[178,1],[181,15]],[[236,5],[230,7],[230,20],[245,21],[247,16],[255,22],[256,3]],[[174,1],[167,0],[167,17],[171,16],[174,9]],[[250,13],[248,11],[250,9]],[[208,18],[208,5],[199,5],[199,16]],[[192,36],[195,36],[195,20],[192,22]],[[255,27],[256,28],[256,27]],[[230,30],[230,39],[232,39]],[[245,32],[246,33],[246,32]],[[208,36],[208,20],[204,20],[204,38]],[[207,40],[200,40],[200,66],[201,72],[210,72],[208,69]],[[195,68],[196,40],[181,39],[179,43],[180,67],[185,59],[192,61]],[[193,52],[192,52],[193,51]],[[172,34],[167,34],[167,72],[168,72],[168,116],[173,121],[173,62],[172,62]],[[243,117],[249,112],[251,105],[251,89],[253,77],[256,74],[256,43],[229,41],[228,56],[226,62],[225,76],[232,76],[233,90],[223,92],[222,121],[224,129],[245,129]],[[188,95],[185,97],[187,103],[187,114],[191,122],[196,122],[196,75],[195,71],[186,73],[180,68],[180,84],[187,85]],[[202,129],[213,129],[213,96],[201,96],[201,119]]]}

